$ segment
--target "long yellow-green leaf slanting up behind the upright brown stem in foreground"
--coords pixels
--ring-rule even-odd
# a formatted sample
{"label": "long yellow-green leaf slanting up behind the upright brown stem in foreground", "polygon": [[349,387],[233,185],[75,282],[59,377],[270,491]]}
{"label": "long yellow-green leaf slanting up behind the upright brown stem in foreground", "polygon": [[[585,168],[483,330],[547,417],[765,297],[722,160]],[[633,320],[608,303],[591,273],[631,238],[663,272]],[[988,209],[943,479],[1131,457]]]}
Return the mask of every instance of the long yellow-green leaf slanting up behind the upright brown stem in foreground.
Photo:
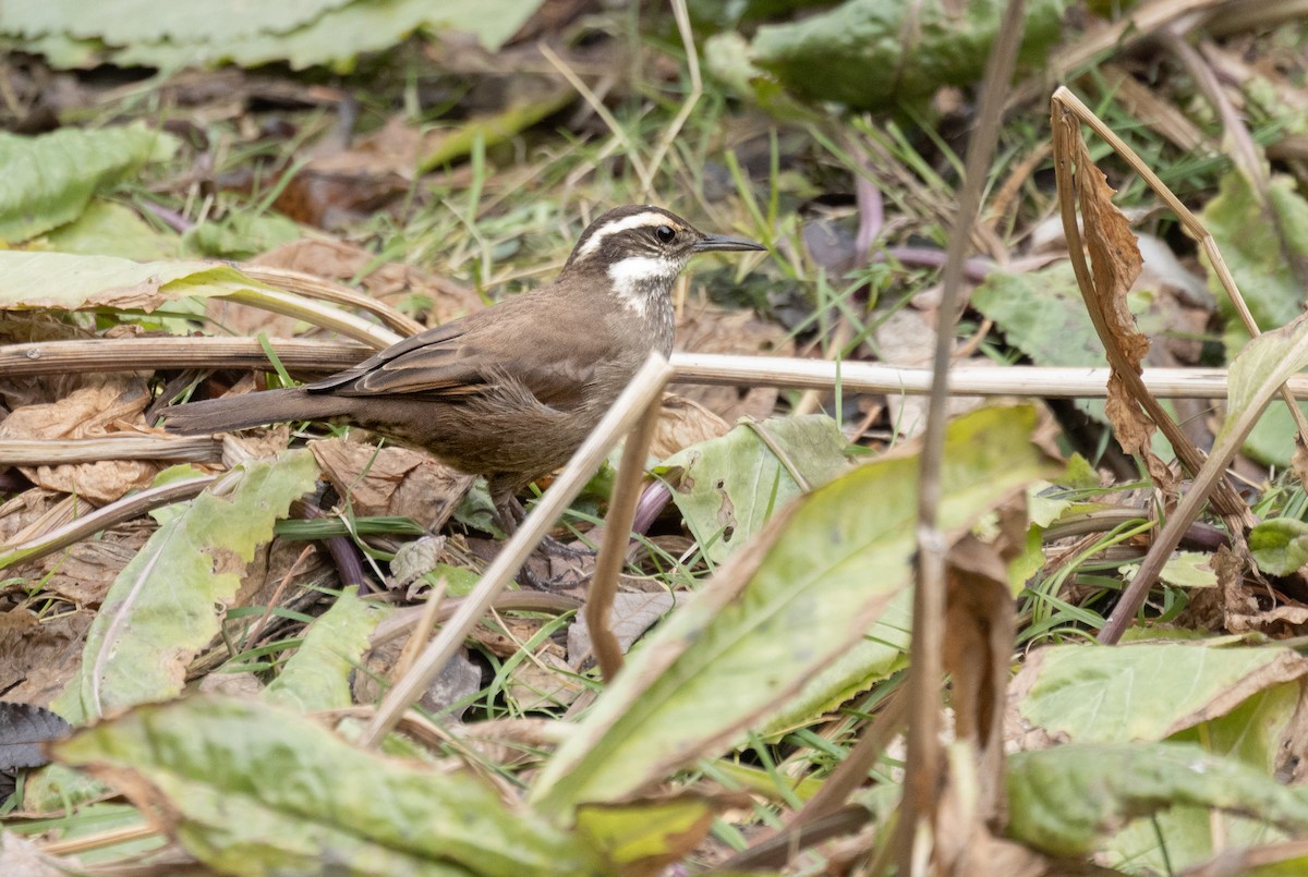
{"label": "long yellow-green leaf slanting up behind the upright brown stem in foreground", "polygon": [[[1033,426],[1029,406],[950,425],[947,529],[1053,472],[1029,440]],[[782,710],[912,580],[917,472],[916,456],[888,456],[793,502],[629,656],[532,799],[555,812],[619,799]]]}

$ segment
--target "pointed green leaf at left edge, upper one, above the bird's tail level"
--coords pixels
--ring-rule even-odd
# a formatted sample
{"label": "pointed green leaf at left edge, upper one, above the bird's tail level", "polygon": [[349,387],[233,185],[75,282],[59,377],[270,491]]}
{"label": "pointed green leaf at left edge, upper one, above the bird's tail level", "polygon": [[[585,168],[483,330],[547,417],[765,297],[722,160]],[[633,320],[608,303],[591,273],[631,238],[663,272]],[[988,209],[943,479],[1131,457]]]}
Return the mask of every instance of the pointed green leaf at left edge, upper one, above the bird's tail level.
{"label": "pointed green leaf at left edge, upper one, above the bird's tail level", "polygon": [[0,132],[0,239],[20,243],[72,222],[97,192],[175,149],[171,135],[140,123],[38,137]]}

